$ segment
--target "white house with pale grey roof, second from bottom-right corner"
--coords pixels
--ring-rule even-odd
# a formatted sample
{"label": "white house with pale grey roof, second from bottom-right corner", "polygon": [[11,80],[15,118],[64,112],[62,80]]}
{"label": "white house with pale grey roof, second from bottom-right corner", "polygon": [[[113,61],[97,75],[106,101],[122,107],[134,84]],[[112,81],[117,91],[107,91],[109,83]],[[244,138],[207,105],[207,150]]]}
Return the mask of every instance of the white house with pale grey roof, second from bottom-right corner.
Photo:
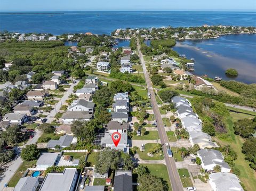
{"label": "white house with pale grey roof, second from bottom-right corner", "polygon": [[202,168],[206,171],[213,170],[216,165],[219,165],[221,167],[221,172],[230,172],[230,167],[224,161],[221,152],[204,148],[199,150],[197,155],[202,161]]}

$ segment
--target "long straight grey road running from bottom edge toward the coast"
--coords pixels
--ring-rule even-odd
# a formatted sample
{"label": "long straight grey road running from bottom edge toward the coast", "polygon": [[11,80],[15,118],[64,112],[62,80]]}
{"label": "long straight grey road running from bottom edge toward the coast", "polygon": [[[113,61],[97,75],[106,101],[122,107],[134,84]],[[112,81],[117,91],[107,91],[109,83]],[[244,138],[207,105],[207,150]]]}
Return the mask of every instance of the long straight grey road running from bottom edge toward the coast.
{"label": "long straight grey road running from bottom edge toward the coast", "polygon": [[[164,123],[163,120],[161,118],[161,113],[158,109],[158,105],[156,102],[156,97],[154,94],[154,90],[153,87],[151,86],[151,80],[149,78],[149,75],[147,73],[147,69],[146,69],[146,65],[145,65],[145,61],[143,59],[143,55],[140,52],[140,44],[138,43],[139,40],[137,39],[137,47],[138,47],[138,51],[139,51],[139,57],[140,57],[140,61],[142,64],[142,68],[143,68],[143,73],[145,75],[146,78],[146,83],[147,83],[147,88],[148,88],[148,92],[151,94],[151,103],[152,103],[152,107],[153,107],[153,111],[155,114],[155,118],[156,118],[156,123],[157,123],[157,131],[161,140],[161,144],[164,143],[169,143],[165,129],[164,129]],[[180,176],[179,173],[177,171],[177,167],[175,164],[175,161],[173,159],[173,157],[168,157],[167,152],[166,152],[166,147],[163,146],[163,151],[164,151],[164,158],[165,158],[165,163],[166,163],[166,167],[167,167],[167,171],[169,174],[169,179],[172,185],[172,190],[173,191],[182,191],[183,187],[181,184],[181,180],[180,180]]]}

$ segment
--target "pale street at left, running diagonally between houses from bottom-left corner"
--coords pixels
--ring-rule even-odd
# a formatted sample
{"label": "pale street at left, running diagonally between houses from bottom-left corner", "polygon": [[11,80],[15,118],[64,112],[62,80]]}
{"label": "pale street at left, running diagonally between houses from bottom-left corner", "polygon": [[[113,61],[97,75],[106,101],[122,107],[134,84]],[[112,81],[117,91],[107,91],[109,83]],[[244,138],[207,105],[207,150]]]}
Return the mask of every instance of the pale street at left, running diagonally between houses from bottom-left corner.
{"label": "pale street at left, running diagonally between houses from bottom-left corner", "polygon": [[[47,123],[50,123],[54,120],[55,114],[60,111],[60,107],[61,107],[62,103],[65,103],[65,101],[68,99],[68,96],[71,93],[73,93],[74,86],[76,86],[78,84],[78,82],[79,81],[76,81],[75,84],[72,84],[69,87],[69,89],[65,92],[65,94],[62,96],[61,101],[59,101],[57,104],[55,104],[54,110],[52,110],[50,112],[50,114],[48,114],[46,117]],[[38,138],[41,137],[42,134],[43,133],[41,131],[36,130],[34,137],[29,139],[26,145],[35,144],[37,142]],[[24,145],[24,146],[26,146],[26,145]],[[0,190],[4,189],[4,185],[7,184],[11,180],[14,173],[18,170],[18,168],[22,164],[22,160],[21,160],[21,157],[19,156],[19,154],[20,154],[21,149],[24,146],[17,148],[18,155],[16,156],[16,158],[13,161],[6,163],[4,165],[6,170],[0,176]]]}

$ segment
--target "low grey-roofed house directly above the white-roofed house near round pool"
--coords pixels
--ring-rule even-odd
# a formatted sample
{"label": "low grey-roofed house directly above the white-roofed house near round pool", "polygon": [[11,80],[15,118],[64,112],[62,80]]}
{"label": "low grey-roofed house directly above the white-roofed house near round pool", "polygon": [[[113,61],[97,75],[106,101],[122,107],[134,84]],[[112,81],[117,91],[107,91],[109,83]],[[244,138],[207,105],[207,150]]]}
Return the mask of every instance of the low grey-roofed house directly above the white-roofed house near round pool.
{"label": "low grey-roofed house directly above the white-roofed house near round pool", "polygon": [[47,148],[55,149],[55,146],[59,145],[61,148],[65,148],[70,146],[71,144],[75,144],[77,142],[76,137],[70,135],[63,135],[59,138],[59,140],[49,140],[47,143]]}

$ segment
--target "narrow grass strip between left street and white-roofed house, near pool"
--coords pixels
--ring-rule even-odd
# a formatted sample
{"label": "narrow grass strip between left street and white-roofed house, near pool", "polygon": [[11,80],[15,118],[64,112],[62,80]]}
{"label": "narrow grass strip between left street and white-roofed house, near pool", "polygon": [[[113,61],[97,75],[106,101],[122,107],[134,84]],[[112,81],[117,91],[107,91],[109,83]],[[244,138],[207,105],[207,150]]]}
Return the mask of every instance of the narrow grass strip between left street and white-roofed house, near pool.
{"label": "narrow grass strip between left street and white-roofed house, near pool", "polygon": [[25,171],[28,168],[33,167],[33,165],[36,164],[36,160],[35,161],[24,161],[20,167],[18,168],[18,170],[15,172],[15,174],[13,175],[13,177],[11,178],[11,180],[8,183],[9,187],[15,187],[18,183],[18,181],[20,180],[20,178],[23,176],[23,174],[25,173]]}

